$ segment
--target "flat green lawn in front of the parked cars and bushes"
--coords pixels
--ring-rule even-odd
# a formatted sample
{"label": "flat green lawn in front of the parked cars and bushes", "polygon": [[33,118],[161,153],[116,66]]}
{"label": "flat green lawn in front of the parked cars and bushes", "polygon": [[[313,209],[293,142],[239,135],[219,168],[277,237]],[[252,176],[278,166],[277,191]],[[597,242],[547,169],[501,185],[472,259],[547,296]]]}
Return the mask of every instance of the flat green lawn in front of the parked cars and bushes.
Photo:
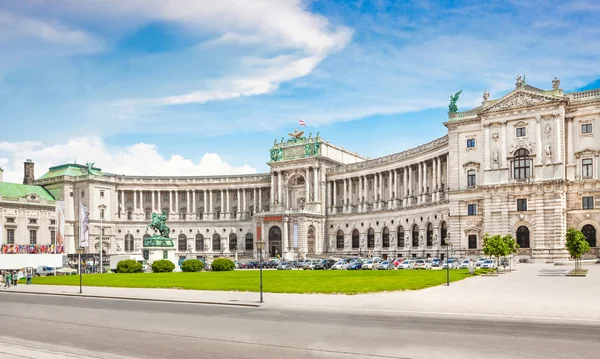
{"label": "flat green lawn in front of the parked cars and bushes", "polygon": [[[450,271],[452,282],[468,277],[471,277],[468,270]],[[416,290],[445,283],[445,270],[263,271],[263,290],[271,293],[359,294]],[[79,285],[79,276],[33,278],[33,284]],[[238,270],[200,273],[87,274],[83,276],[83,285],[258,292],[259,272]]]}

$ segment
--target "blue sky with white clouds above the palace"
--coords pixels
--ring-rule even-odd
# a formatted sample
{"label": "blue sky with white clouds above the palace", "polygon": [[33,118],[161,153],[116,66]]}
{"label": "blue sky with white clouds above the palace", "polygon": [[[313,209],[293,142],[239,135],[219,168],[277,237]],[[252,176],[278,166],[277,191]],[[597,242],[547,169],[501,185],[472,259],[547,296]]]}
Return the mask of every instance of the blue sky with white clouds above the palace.
{"label": "blue sky with white clouds above the palace", "polygon": [[377,157],[445,134],[517,74],[600,87],[596,1],[54,0],[0,4],[0,166],[266,171],[307,132]]}

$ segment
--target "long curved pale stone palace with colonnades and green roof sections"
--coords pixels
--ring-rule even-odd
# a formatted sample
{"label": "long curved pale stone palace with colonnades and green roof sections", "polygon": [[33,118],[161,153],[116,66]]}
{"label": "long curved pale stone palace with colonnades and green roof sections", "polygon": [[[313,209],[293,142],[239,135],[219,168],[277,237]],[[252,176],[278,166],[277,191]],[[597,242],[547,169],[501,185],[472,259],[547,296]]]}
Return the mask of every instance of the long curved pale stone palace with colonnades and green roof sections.
{"label": "long curved pale stone palace with colonnades and green roof sections", "polygon": [[[567,228],[599,256],[600,89],[563,93],[525,83],[453,111],[446,136],[368,159],[301,132],[276,141],[270,171],[231,176],[127,176],[79,164],[24,184],[0,183],[4,242],[51,244],[54,201],[65,201],[65,252],[90,211],[88,251],[141,254],[153,212],[166,212],[183,258],[479,255],[484,233],[512,234],[518,257],[567,257]],[[1,178],[0,178],[1,181]],[[10,234],[8,233],[10,231]],[[35,234],[32,234],[36,232]],[[34,237],[32,237],[34,236]],[[12,242],[7,242],[12,241]],[[457,254],[458,253],[458,254]]]}

